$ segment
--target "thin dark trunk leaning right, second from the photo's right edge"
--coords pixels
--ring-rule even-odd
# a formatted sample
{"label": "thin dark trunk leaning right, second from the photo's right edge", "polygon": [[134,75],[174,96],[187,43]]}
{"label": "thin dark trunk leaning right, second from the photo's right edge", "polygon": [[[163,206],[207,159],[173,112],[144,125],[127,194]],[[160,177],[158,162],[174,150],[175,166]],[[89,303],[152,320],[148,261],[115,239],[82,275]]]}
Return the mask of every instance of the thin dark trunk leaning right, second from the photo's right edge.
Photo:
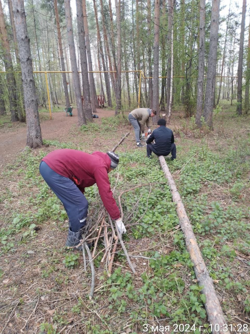
{"label": "thin dark trunk leaning right, second from the photo's right edge", "polygon": [[246,6],[247,6],[246,0],[243,0],[241,29],[240,29],[240,49],[239,49],[239,61],[238,61],[238,86],[237,86],[237,108],[236,108],[236,112],[238,115],[242,115],[242,66],[243,66]]}

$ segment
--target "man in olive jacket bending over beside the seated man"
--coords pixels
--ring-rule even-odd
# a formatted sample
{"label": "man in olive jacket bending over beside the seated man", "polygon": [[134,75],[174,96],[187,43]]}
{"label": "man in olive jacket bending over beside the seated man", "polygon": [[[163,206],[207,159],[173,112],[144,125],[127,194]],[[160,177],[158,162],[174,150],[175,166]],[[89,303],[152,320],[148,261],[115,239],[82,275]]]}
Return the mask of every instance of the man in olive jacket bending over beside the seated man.
{"label": "man in olive jacket bending over beside the seated man", "polygon": [[155,115],[156,111],[149,108],[137,108],[131,111],[131,113],[128,115],[129,122],[132,124],[135,131],[135,140],[137,147],[144,147],[144,145],[142,145],[140,142],[140,131],[142,132],[142,139],[145,139],[145,124],[148,127],[148,133],[151,133],[151,130],[149,128],[149,118],[154,117]]}

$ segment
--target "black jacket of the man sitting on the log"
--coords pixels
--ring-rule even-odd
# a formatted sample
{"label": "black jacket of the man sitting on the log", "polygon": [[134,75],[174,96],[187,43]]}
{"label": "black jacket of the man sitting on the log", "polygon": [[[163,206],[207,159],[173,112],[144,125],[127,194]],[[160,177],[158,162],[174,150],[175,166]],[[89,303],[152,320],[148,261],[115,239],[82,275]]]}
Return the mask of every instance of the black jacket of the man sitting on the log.
{"label": "black jacket of the man sitting on the log", "polygon": [[165,126],[155,129],[147,140],[147,144],[155,141],[154,148],[159,155],[167,155],[171,152],[171,144],[174,143],[173,131]]}

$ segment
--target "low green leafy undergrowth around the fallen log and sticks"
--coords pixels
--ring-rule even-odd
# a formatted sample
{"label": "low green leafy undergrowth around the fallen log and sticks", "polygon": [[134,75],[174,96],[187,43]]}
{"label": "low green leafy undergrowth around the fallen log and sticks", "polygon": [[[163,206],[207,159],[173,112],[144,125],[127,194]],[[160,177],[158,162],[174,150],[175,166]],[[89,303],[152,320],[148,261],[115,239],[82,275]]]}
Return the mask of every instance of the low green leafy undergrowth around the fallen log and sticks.
{"label": "low green leafy undergrowth around the fallen log and sticks", "polygon": [[[108,122],[102,126],[108,126]],[[46,143],[58,148],[76,148],[70,143]],[[26,150],[16,164],[4,172],[5,179],[17,182],[15,188],[6,185],[1,197],[2,208],[6,210],[5,226],[8,226],[0,230],[2,257],[38,241],[39,235],[34,230],[38,225],[49,224],[55,236],[58,229],[66,234],[66,212],[39,174],[39,163],[44,154],[42,150]],[[247,260],[250,249],[249,198],[244,196],[249,188],[249,156],[249,142],[246,141],[242,142],[240,150],[229,151],[224,157],[202,145],[188,152],[178,147],[178,159],[167,161],[210,275],[217,282],[216,289],[220,295],[226,292],[227,298],[222,301],[225,312],[234,308],[237,312],[247,313],[250,309],[250,282],[247,271],[242,270],[242,260],[238,259],[243,259],[246,268],[250,266]],[[40,332],[59,332],[67,324],[67,315],[71,314],[81,324],[81,331],[86,333],[121,333],[127,328],[130,333],[139,333],[143,332],[143,324],[152,319],[169,325],[172,330],[173,324],[183,323],[204,326],[204,333],[209,333],[203,306],[205,296],[197,284],[158,159],[154,156],[149,160],[145,151],[139,150],[121,153],[120,164],[109,177],[111,187],[116,185],[116,199],[122,191],[129,190],[121,197],[128,253],[150,259],[133,259],[137,264],[137,276],[123,267],[115,267],[108,277],[104,269],[98,276],[96,284],[100,288],[94,294],[93,304],[88,301],[87,294],[80,295],[74,299],[73,305],[58,307],[52,320],[47,317]],[[146,185],[137,187],[142,184]],[[24,193],[26,195],[22,197]],[[17,194],[20,198],[18,205]],[[101,204],[97,187],[87,188],[85,195],[91,216]],[[46,240],[43,242],[46,246]],[[97,251],[101,249],[102,245],[99,245]],[[100,267],[102,256],[100,254],[94,260],[96,269]],[[76,268],[83,272],[81,256],[65,251],[61,245],[60,249],[55,247],[52,254],[47,252],[45,257],[46,261],[38,265],[42,270],[39,287],[51,280],[56,282],[55,291],[71,285],[76,291],[75,276],[72,278],[71,275]],[[115,261],[126,267],[120,250]],[[89,276],[89,270],[86,275]],[[78,283],[78,290],[88,288],[84,281]],[[240,303],[237,302],[239,299]],[[89,311],[93,310],[93,305],[104,309],[98,313],[98,318],[95,312]],[[230,314],[227,316],[231,321]],[[200,333],[197,328],[193,332]]]}

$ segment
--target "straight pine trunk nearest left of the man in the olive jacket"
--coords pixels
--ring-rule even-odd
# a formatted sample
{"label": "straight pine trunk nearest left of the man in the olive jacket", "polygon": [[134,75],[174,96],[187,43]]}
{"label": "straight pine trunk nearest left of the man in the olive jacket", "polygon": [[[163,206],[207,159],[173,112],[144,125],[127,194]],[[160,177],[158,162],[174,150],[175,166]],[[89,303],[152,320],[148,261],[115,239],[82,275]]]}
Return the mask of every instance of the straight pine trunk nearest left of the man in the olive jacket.
{"label": "straight pine trunk nearest left of the man in the olive jacket", "polygon": [[121,35],[121,0],[115,0],[116,9],[116,26],[117,26],[117,81],[116,81],[116,110],[115,115],[119,114],[122,108],[121,95],[122,95],[122,35]]}

